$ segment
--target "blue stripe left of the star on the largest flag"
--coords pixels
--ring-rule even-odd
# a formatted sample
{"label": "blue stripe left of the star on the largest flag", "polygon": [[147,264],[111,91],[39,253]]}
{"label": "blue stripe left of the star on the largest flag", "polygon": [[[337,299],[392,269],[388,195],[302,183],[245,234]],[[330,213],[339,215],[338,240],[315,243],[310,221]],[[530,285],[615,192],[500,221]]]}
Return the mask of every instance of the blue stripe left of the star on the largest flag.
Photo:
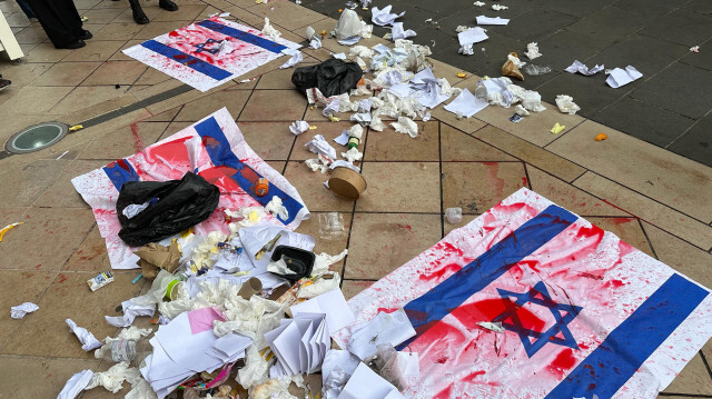
{"label": "blue stripe left of the star on the largest flag", "polygon": [[402,343],[398,349],[405,348],[425,333],[467,298],[498,279],[576,219],[575,215],[552,205],[432,290],[408,302],[404,310],[415,328],[416,336]]}

